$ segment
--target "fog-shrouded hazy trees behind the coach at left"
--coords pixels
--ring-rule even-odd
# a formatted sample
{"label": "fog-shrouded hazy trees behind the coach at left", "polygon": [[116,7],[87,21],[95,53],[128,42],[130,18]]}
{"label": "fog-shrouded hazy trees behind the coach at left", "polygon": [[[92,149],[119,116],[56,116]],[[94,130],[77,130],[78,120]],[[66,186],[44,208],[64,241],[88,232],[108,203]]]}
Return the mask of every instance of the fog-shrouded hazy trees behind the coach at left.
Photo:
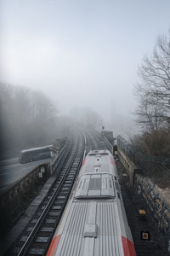
{"label": "fog-shrouded hazy trees behind the coach at left", "polygon": [[57,109],[41,91],[0,84],[1,151],[53,142]]}

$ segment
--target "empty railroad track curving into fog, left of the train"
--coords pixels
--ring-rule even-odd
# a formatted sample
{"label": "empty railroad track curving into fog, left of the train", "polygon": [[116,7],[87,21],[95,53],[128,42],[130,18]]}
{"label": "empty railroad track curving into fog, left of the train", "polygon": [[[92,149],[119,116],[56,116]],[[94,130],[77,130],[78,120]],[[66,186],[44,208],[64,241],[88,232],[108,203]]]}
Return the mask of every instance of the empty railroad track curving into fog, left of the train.
{"label": "empty railroad track curving into fog, left of the train", "polygon": [[[77,177],[77,171],[82,164],[84,141],[80,131],[78,137],[74,136],[67,148],[67,158],[61,167],[59,178],[50,190],[48,196],[42,201],[37,212],[27,224],[12,249],[6,255],[45,255],[59,224],[65,204],[71,193],[71,188]],[[76,143],[73,143],[76,142]],[[54,173],[55,175],[55,173]]]}

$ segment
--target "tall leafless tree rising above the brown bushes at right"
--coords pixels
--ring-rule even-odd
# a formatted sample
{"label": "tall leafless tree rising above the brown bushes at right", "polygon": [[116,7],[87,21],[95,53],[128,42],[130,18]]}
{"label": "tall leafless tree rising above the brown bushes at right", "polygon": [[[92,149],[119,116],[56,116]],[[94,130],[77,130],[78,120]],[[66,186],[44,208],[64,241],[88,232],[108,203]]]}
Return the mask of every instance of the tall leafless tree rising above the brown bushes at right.
{"label": "tall leafless tree rising above the brown bushes at right", "polygon": [[139,77],[139,123],[156,130],[170,119],[170,31],[157,39],[151,56],[144,56]]}

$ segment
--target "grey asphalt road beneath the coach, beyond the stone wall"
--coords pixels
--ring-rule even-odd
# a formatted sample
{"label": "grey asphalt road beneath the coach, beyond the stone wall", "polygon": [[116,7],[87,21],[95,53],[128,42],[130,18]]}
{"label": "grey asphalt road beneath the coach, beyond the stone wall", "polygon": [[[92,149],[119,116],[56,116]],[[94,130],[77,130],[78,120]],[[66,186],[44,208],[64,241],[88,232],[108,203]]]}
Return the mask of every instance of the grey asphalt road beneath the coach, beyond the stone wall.
{"label": "grey asphalt road beneath the coach, beyond the stone wall", "polygon": [[20,164],[17,158],[0,161],[0,189],[5,189],[36,166],[47,163],[49,160],[50,158],[26,164]]}

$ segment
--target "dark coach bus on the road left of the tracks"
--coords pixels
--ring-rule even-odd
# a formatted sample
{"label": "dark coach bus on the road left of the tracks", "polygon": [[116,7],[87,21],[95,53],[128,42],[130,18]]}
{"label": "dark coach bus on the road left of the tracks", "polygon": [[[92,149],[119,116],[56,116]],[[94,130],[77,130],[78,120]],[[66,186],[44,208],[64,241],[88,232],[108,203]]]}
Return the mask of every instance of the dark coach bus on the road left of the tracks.
{"label": "dark coach bus on the road left of the tracks", "polygon": [[42,160],[52,156],[53,145],[48,145],[39,148],[30,148],[20,151],[19,161],[21,164]]}

